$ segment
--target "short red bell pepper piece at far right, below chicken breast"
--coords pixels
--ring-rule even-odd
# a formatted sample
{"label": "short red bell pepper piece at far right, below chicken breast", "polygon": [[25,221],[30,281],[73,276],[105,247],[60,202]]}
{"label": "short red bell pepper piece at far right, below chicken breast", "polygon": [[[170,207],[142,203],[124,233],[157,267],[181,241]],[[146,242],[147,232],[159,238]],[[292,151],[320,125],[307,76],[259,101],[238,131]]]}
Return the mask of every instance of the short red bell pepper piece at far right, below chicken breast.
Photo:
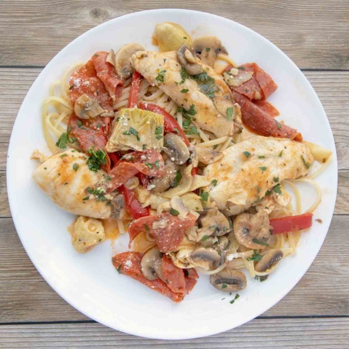
{"label": "short red bell pepper piece at far right, below chicken breast", "polygon": [[305,213],[298,216],[287,216],[270,219],[272,234],[284,234],[285,232],[297,231],[310,228],[312,226],[313,214]]}

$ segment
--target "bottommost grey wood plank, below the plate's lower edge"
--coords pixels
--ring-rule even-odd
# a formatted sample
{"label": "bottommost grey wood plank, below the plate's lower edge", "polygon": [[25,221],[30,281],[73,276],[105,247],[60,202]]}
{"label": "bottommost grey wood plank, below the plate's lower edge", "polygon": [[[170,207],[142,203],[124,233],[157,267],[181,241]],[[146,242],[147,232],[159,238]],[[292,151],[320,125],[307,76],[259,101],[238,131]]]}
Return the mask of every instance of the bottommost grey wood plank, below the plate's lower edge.
{"label": "bottommost grey wood plank, below the plate's lower edge", "polygon": [[[255,319],[230,331],[197,339],[165,341],[130,336],[98,323],[4,325],[6,348],[332,348],[349,340],[349,318]],[[1,344],[0,344],[1,346]],[[4,347],[5,347],[4,346]]]}

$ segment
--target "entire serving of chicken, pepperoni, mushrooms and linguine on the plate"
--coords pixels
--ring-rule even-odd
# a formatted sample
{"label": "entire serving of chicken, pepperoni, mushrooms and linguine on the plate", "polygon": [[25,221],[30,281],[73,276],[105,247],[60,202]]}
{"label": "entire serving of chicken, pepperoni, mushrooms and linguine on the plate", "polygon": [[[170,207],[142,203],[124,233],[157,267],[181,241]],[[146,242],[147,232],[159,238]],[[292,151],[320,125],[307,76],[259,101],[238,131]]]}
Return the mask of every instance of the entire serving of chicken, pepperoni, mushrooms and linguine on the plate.
{"label": "entire serving of chicken, pepperoni, mushrooms and linguine on the plate", "polygon": [[[152,40],[159,51],[91,52],[53,83],[42,111],[53,154],[33,152],[33,179],[77,216],[77,252],[128,234],[129,250],[112,257],[119,274],[173,302],[198,273],[238,292],[253,282],[245,271],[264,281],[296,254],[331,152],[277,119],[272,76],[258,63],[236,66],[218,37],[165,22]],[[299,182],[317,192],[305,211]]]}

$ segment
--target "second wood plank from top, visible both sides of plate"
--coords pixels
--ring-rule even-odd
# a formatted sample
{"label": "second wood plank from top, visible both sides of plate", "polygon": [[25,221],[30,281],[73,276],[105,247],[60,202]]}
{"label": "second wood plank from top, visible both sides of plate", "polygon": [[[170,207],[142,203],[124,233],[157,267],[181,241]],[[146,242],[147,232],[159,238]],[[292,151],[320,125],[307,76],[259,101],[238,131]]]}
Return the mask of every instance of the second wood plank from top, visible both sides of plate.
{"label": "second wood plank from top, visible both sides of plate", "polygon": [[[40,73],[38,68],[0,68],[2,127],[0,142],[8,142],[14,119],[29,87]],[[306,71],[327,112],[336,141],[339,170],[349,169],[349,71]],[[0,150],[0,170],[5,168]]]}

